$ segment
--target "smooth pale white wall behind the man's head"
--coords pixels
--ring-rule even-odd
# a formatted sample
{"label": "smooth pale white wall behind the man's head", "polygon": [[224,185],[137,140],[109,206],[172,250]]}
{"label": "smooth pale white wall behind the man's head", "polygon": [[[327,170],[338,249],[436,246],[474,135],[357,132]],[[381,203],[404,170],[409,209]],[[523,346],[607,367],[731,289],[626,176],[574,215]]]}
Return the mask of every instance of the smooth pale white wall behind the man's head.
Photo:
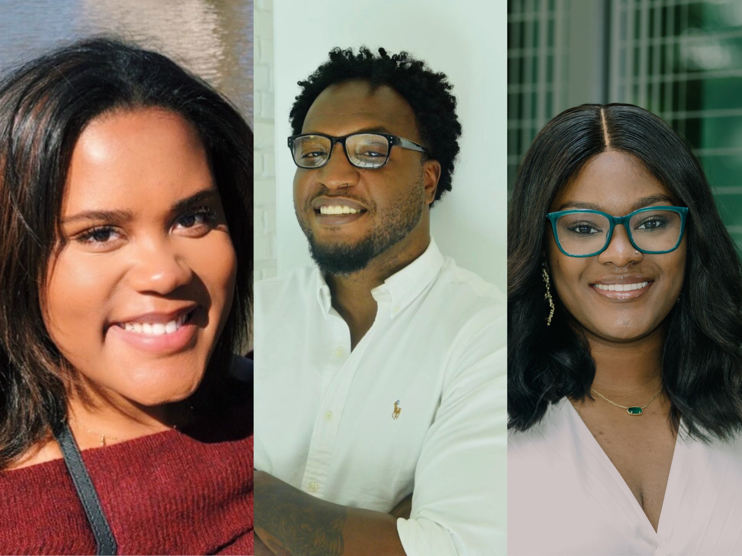
{"label": "smooth pale white wall behind the man's head", "polygon": [[[256,8],[260,1],[256,2]],[[273,4],[275,254],[278,275],[311,263],[292,200],[286,148],[296,85],[332,47],[407,50],[444,72],[464,132],[453,190],[431,210],[444,255],[505,291],[507,205],[507,7],[505,0],[281,0]],[[256,11],[256,39],[260,33]],[[257,40],[256,40],[257,42]],[[259,76],[255,71],[256,99]],[[256,106],[256,132],[260,133]],[[258,140],[260,142],[260,139]],[[256,143],[257,144],[257,143]],[[257,234],[256,221],[256,234]]]}

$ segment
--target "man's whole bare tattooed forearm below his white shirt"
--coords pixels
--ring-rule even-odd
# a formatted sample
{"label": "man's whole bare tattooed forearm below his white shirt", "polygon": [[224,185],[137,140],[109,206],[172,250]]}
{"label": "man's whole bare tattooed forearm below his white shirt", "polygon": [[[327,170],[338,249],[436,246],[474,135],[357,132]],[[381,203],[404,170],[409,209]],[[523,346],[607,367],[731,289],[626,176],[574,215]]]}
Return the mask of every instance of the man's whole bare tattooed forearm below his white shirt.
{"label": "man's whole bare tattooed forearm below his white shirt", "polygon": [[349,508],[255,471],[255,556],[404,556],[396,522],[411,500],[390,514]]}

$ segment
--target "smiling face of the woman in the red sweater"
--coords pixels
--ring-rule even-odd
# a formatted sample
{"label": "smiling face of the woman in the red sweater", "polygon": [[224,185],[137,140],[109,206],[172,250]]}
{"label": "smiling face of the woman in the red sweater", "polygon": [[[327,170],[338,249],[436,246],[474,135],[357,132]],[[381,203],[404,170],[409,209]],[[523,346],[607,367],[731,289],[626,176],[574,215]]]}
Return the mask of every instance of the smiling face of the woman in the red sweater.
{"label": "smiling face of the woman in the red sweater", "polygon": [[190,396],[237,272],[196,130],[160,108],[94,119],[73,150],[61,221],[42,302],[75,373],[144,406]]}

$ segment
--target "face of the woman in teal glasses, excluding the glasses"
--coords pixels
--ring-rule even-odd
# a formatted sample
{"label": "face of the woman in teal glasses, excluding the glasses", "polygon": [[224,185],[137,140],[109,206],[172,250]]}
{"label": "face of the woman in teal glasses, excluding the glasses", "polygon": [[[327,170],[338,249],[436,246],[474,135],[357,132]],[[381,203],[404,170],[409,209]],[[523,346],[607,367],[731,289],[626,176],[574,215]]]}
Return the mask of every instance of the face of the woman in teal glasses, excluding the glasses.
{"label": "face of the woman in teal glasses, excluding the glasses", "polygon": [[[639,159],[608,150],[590,159],[554,198],[550,212],[591,208],[624,216],[637,208],[676,205],[677,201]],[[588,335],[609,342],[637,340],[655,331],[672,310],[683,288],[686,238],[666,254],[643,254],[618,225],[603,253],[568,257],[548,227],[548,270],[559,299]],[[608,285],[639,284],[630,291]],[[554,316],[554,320],[559,314]]]}

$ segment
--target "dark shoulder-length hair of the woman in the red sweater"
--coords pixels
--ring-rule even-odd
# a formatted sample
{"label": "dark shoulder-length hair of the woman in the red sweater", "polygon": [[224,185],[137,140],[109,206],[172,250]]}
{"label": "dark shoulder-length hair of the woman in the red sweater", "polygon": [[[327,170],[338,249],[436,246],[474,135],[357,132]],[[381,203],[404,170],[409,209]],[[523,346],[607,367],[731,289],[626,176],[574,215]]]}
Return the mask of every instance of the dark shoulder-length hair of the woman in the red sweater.
{"label": "dark shoulder-length hair of the woman in the red sweater", "polygon": [[69,365],[42,319],[75,143],[113,110],[160,107],[197,130],[237,252],[229,318],[207,383],[245,353],[252,303],[252,130],[202,79],[161,54],[93,38],[53,50],[0,82],[0,469],[65,421]]}

